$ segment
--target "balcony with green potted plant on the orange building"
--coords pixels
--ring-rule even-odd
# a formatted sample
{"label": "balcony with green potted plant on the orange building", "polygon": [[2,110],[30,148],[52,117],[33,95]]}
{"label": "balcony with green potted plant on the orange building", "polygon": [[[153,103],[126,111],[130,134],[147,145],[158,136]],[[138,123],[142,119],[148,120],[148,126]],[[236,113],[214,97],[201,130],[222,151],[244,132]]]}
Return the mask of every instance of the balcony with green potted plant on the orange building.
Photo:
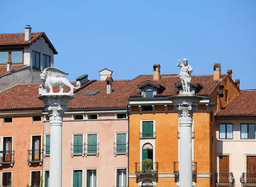
{"label": "balcony with green potted plant on the orange building", "polygon": [[135,173],[138,176],[155,176],[158,173],[158,162],[145,159],[143,162],[135,162]]}

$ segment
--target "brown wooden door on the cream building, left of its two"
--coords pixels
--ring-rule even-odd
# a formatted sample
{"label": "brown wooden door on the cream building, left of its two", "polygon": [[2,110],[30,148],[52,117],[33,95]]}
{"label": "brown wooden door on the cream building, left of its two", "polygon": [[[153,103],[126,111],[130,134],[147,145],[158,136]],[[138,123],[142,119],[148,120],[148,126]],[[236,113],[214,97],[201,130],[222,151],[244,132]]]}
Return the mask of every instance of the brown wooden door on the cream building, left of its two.
{"label": "brown wooden door on the cream building, left of its two", "polygon": [[219,183],[230,183],[229,156],[219,156]]}

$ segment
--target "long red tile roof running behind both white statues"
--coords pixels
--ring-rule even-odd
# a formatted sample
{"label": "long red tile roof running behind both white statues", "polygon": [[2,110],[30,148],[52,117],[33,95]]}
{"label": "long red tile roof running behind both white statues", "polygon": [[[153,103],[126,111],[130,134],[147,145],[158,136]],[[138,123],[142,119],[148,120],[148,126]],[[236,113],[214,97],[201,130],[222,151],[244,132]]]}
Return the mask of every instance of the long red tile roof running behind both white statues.
{"label": "long red tile roof running behind both white statues", "polygon": [[[227,74],[222,75],[222,78]],[[137,85],[146,80],[151,80],[162,85],[166,89],[157,96],[170,96],[178,93],[175,84],[180,82],[177,74],[162,75],[159,81],[153,81],[153,75],[139,75],[132,80],[114,80],[112,84],[113,92],[106,93],[106,82],[103,80],[90,80],[74,91],[75,98],[70,101],[69,109],[82,108],[119,108],[128,105],[128,97],[140,96],[141,90]],[[201,85],[203,88],[196,95],[209,95],[216,88],[220,81],[214,81],[213,75],[194,75],[192,82]],[[76,82],[72,82],[73,85]],[[20,84],[0,93],[0,110],[17,110],[43,108],[44,105],[38,95],[38,83]],[[54,87],[57,92],[58,87]],[[66,92],[69,88],[66,88]],[[100,91],[94,96],[82,96],[87,91]],[[133,93],[133,94],[132,94]],[[137,94],[137,95],[136,95]]]}

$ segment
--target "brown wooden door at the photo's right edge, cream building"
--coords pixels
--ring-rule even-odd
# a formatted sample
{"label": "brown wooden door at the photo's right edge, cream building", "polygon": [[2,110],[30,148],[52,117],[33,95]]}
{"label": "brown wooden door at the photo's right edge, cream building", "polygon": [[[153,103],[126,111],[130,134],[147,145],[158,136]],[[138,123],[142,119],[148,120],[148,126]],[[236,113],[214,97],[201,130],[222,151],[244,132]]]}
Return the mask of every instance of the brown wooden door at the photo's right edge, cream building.
{"label": "brown wooden door at the photo's right edge, cream building", "polygon": [[246,156],[246,183],[256,183],[256,156]]}

